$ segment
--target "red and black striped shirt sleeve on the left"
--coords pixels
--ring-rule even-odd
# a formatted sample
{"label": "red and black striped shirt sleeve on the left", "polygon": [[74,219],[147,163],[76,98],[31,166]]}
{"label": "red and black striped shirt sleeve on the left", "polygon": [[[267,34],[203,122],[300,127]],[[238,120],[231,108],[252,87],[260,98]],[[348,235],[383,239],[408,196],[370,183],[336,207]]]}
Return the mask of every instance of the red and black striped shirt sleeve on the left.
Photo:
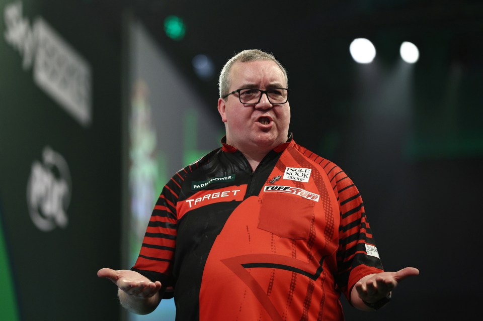
{"label": "red and black striped shirt sleeve on the left", "polygon": [[152,210],[136,264],[131,268],[151,281],[160,281],[165,299],[173,297],[171,272],[177,236],[176,202],[183,180],[180,171],[164,186]]}

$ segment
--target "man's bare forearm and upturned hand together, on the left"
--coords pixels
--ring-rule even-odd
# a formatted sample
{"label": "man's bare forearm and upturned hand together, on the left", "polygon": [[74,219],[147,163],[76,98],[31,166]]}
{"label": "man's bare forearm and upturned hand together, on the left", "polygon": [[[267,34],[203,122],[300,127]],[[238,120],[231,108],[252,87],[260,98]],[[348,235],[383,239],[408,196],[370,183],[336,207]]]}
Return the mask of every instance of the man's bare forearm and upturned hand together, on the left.
{"label": "man's bare forearm and upturned hand together, on the left", "polygon": [[152,282],[135,271],[103,268],[97,272],[97,276],[108,278],[117,285],[122,306],[131,312],[150,313],[161,301],[161,282]]}

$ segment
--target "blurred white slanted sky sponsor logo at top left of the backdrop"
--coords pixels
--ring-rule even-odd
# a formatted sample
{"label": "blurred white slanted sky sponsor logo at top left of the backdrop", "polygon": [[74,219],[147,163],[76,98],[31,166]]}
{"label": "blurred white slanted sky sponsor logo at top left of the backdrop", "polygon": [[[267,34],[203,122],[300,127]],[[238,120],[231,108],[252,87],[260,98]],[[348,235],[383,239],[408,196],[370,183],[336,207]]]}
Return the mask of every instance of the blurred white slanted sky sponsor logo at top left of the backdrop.
{"label": "blurred white slanted sky sponsor logo at top left of the backdrop", "polygon": [[89,63],[44,19],[32,25],[23,17],[22,2],[5,6],[5,41],[33,66],[34,82],[83,126],[92,121],[92,76]]}

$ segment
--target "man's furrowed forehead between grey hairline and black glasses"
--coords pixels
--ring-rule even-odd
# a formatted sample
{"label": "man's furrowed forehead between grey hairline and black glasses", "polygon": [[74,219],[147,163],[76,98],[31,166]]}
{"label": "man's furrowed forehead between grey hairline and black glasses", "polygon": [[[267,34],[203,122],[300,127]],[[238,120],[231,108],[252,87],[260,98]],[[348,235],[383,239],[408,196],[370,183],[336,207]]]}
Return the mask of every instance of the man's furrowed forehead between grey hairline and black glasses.
{"label": "man's furrowed forehead between grey hairline and black glasses", "polygon": [[231,86],[278,84],[286,86],[285,76],[272,60],[237,61],[230,70]]}

